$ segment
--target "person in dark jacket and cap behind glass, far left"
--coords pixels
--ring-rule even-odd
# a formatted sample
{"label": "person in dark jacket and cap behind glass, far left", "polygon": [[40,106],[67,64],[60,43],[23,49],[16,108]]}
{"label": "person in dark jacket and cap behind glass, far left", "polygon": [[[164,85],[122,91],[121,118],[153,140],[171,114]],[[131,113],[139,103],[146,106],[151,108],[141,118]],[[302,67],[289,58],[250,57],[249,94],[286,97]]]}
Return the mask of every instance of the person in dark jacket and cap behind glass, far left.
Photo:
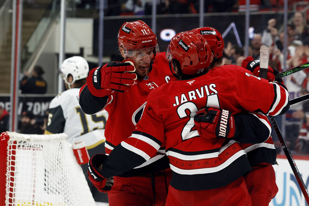
{"label": "person in dark jacket and cap behind glass, far left", "polygon": [[22,94],[45,94],[47,91],[47,83],[42,78],[44,70],[40,66],[35,66],[32,69],[32,77],[28,78],[29,74],[26,71],[25,76],[20,81],[20,89]]}

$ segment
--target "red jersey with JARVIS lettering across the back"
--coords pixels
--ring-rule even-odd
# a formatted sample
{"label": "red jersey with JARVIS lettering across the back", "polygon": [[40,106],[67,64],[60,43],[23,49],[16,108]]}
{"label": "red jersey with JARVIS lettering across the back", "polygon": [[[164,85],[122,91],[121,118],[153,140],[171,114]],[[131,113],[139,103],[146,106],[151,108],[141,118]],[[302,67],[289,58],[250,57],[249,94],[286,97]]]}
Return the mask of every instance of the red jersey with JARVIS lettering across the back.
{"label": "red jersey with JARVIS lettering across the back", "polygon": [[225,109],[232,115],[256,111],[249,113],[264,124],[261,131],[268,129],[270,133],[269,121],[257,112],[269,115],[286,112],[288,92],[280,83],[269,83],[235,65],[216,67],[197,78],[164,84],[150,92],[137,129],[110,153],[102,175],[108,178],[131,169],[165,147],[173,171],[170,184],[178,190],[213,189],[235,181],[251,169],[246,153],[237,138],[199,136],[193,118],[204,107]]}

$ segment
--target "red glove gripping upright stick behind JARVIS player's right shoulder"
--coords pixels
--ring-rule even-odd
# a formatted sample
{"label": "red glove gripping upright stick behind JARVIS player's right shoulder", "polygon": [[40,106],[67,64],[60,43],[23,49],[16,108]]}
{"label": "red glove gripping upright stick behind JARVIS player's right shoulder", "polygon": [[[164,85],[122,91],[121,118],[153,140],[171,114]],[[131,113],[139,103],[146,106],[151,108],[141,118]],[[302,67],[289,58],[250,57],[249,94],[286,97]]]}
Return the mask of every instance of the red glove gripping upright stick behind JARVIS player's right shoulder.
{"label": "red glove gripping upright stick behind JARVIS player's right shoulder", "polygon": [[[248,69],[252,72],[253,75],[260,76],[260,60],[254,60],[253,57],[247,57],[243,60],[241,66],[245,69]],[[271,66],[268,66],[267,77],[266,79],[269,82],[275,81],[275,74],[279,74],[276,69],[273,69]],[[282,83],[282,79],[278,79],[278,82]]]}

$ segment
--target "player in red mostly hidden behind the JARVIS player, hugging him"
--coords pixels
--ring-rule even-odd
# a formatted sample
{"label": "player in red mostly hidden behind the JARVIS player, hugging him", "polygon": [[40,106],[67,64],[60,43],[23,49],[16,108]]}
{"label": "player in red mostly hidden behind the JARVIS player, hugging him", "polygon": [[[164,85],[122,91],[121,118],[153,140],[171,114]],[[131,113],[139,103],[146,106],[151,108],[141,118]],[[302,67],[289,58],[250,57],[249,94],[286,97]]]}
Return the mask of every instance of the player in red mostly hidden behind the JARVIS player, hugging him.
{"label": "player in red mostly hidden behind the JARVIS player, hugging him", "polygon": [[[201,34],[207,40],[214,53],[214,61],[222,57],[224,42],[221,34],[216,29],[212,27],[201,27],[192,31]],[[243,68],[250,70],[257,77],[259,76],[259,66],[259,60],[254,61],[252,57],[247,57],[242,64]],[[266,78],[269,82],[275,80],[273,73],[274,70],[269,67]],[[201,123],[198,124],[200,126]],[[244,176],[252,205],[268,205],[278,192],[275,171],[272,166],[276,162],[277,153],[272,137],[269,136],[263,143],[240,145],[246,151],[248,160],[252,166],[252,171]]]}

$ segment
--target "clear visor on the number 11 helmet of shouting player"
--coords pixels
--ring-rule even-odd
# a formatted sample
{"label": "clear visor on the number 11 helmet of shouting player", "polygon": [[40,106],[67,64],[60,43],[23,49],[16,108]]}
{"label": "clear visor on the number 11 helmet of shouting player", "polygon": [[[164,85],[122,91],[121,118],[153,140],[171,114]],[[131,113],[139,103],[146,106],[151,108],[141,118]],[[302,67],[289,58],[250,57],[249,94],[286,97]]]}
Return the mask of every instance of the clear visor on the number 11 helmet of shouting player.
{"label": "clear visor on the number 11 helmet of shouting player", "polygon": [[159,53],[159,45],[142,49],[124,49],[124,55],[135,62],[150,62],[155,58],[155,54]]}

